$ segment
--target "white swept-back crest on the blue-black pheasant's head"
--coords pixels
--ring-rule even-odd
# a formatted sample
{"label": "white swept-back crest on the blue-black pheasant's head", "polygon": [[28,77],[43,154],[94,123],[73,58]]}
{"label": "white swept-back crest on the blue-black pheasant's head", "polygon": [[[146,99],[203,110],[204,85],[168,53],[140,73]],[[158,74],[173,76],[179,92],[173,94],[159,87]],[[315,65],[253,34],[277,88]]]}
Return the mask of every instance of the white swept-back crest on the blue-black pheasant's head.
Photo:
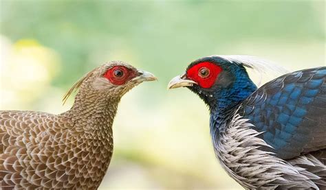
{"label": "white swept-back crest on the blue-black pheasant's head", "polygon": [[262,58],[258,58],[255,56],[230,55],[230,56],[219,56],[219,57],[223,58],[224,60],[228,60],[229,62],[233,62],[235,64],[241,64],[244,67],[252,69],[256,73],[258,73],[259,82],[257,86],[261,86],[263,76],[265,76],[263,74],[272,75],[274,78],[290,72],[284,67],[281,67],[274,62]]}

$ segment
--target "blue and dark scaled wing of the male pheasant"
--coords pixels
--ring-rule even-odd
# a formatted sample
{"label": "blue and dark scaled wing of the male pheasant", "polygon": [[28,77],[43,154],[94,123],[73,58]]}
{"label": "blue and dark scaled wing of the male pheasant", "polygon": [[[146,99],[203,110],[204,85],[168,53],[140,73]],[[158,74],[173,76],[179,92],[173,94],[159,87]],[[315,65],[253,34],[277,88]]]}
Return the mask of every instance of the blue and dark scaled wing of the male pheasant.
{"label": "blue and dark scaled wing of the male pheasant", "polygon": [[[290,159],[326,148],[326,67],[305,69],[276,78],[241,103],[276,156]],[[266,149],[268,149],[266,147]]]}

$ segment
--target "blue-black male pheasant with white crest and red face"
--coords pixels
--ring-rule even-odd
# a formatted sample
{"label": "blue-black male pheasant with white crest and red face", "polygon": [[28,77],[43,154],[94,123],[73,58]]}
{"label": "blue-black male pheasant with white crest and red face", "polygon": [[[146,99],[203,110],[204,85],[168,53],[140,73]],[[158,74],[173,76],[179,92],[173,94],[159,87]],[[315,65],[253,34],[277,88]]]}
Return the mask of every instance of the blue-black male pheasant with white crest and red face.
{"label": "blue-black male pheasant with white crest and red face", "polygon": [[260,88],[251,56],[192,62],[169,88],[188,87],[210,109],[215,154],[246,189],[326,189],[326,67],[287,73]]}

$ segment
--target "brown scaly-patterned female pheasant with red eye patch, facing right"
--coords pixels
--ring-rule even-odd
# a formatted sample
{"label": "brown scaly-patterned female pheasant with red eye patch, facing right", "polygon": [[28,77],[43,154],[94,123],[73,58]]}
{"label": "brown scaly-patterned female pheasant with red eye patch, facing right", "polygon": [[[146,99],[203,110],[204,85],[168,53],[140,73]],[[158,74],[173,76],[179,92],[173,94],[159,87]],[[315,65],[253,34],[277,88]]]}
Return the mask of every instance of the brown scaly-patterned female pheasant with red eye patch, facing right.
{"label": "brown scaly-patterned female pheasant with red eye patch, facing right", "polygon": [[87,73],[61,115],[0,111],[0,189],[97,189],[113,152],[112,123],[124,93],[155,76],[112,61]]}

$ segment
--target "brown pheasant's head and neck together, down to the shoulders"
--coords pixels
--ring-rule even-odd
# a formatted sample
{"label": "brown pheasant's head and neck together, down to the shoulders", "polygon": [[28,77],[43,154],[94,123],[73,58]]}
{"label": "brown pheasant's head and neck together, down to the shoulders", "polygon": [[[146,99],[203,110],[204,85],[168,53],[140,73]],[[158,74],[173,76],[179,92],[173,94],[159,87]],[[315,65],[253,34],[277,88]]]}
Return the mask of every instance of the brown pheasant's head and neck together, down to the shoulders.
{"label": "brown pheasant's head and neck together, down to the shoulders", "polygon": [[[98,126],[96,118],[106,117],[107,126],[111,126],[121,97],[138,84],[153,80],[156,78],[152,73],[135,69],[122,61],[102,64],[87,73],[67,92],[64,102],[79,88],[74,105],[64,115],[76,121],[87,119],[87,123],[92,123],[91,126]],[[85,123],[81,126],[85,129]]]}

